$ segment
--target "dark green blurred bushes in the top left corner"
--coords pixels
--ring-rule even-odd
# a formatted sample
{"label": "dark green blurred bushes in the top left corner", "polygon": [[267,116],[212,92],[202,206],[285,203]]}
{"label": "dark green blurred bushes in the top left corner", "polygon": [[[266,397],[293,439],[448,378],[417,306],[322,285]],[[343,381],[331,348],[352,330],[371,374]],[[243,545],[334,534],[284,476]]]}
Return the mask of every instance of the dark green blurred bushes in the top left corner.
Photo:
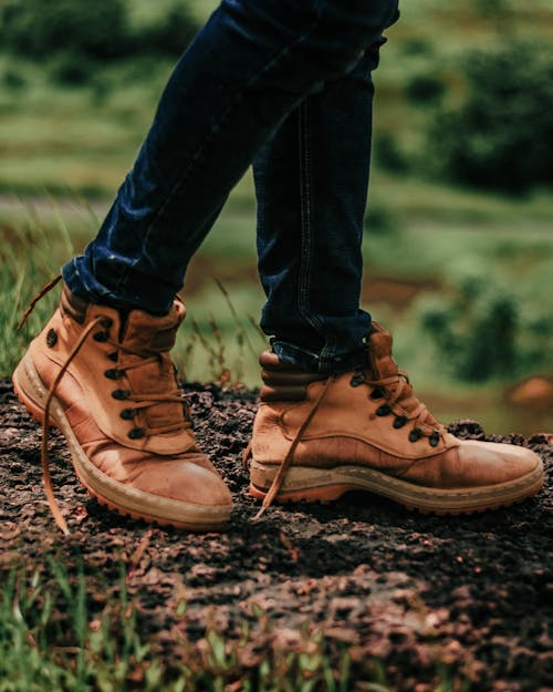
{"label": "dark green blurred bushes in the top left corner", "polygon": [[6,0],[0,4],[0,50],[46,61],[53,75],[84,82],[100,63],[134,55],[179,55],[197,30],[187,6],[156,3],[134,22],[125,0]]}

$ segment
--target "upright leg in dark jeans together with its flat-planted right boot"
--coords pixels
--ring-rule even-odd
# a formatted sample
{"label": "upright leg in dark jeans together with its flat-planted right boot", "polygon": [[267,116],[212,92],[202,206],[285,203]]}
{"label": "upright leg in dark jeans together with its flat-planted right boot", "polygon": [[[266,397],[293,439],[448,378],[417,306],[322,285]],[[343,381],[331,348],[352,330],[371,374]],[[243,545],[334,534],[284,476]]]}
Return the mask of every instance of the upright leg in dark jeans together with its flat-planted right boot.
{"label": "upright leg in dark jeans together with its flat-planted right boot", "polygon": [[437,514],[510,505],[542,486],[540,458],[450,435],[398,370],[390,334],[359,310],[376,63],[374,47],[257,157],[262,324],[273,340],[260,359],[250,492],[262,510],[351,489]]}

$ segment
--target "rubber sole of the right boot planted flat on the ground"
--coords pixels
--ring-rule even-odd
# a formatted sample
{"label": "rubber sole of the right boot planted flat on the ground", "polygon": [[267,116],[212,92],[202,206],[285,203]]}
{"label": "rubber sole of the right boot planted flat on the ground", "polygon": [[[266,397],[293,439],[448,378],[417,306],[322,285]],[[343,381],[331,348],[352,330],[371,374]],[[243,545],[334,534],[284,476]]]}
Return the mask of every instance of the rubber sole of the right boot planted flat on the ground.
{"label": "rubber sole of the right boot planted flat on the ground", "polygon": [[[263,499],[276,471],[278,466],[274,464],[260,464],[252,459],[250,495]],[[509,483],[460,489],[415,485],[366,466],[340,465],[334,468],[291,466],[275,502],[330,503],[349,490],[365,490],[422,514],[472,514],[508,507],[532,497],[539,493],[543,481],[541,463],[531,473]]]}

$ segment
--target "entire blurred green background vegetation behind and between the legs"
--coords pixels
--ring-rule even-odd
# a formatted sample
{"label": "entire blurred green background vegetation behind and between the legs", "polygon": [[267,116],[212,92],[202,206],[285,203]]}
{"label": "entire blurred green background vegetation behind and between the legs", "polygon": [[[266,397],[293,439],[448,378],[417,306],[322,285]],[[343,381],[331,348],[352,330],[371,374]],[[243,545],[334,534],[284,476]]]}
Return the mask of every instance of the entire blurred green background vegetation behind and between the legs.
{"label": "entire blurred green background vegetation behind and between the legs", "polygon": [[[55,297],[19,338],[13,323],[94,234],[171,64],[216,4],[0,2],[3,373]],[[543,430],[547,404],[515,409],[508,393],[553,372],[553,7],[406,2],[388,38],[375,75],[364,302],[445,420]],[[190,378],[255,384],[264,342],[253,267],[248,175],[190,269],[194,321],[177,353]]]}

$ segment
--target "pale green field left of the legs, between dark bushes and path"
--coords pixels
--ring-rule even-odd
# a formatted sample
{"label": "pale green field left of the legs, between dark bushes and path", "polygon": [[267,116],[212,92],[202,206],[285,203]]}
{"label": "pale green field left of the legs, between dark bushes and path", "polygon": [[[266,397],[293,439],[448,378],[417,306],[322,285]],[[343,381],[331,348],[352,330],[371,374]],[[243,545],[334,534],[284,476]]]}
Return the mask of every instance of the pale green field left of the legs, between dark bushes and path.
{"label": "pale green field left of the legs, between dark bushes and path", "polygon": [[105,196],[133,164],[170,63],[105,68],[81,89],[53,84],[43,66],[18,62],[24,86],[2,86],[13,66],[0,58],[0,190],[48,189]]}

